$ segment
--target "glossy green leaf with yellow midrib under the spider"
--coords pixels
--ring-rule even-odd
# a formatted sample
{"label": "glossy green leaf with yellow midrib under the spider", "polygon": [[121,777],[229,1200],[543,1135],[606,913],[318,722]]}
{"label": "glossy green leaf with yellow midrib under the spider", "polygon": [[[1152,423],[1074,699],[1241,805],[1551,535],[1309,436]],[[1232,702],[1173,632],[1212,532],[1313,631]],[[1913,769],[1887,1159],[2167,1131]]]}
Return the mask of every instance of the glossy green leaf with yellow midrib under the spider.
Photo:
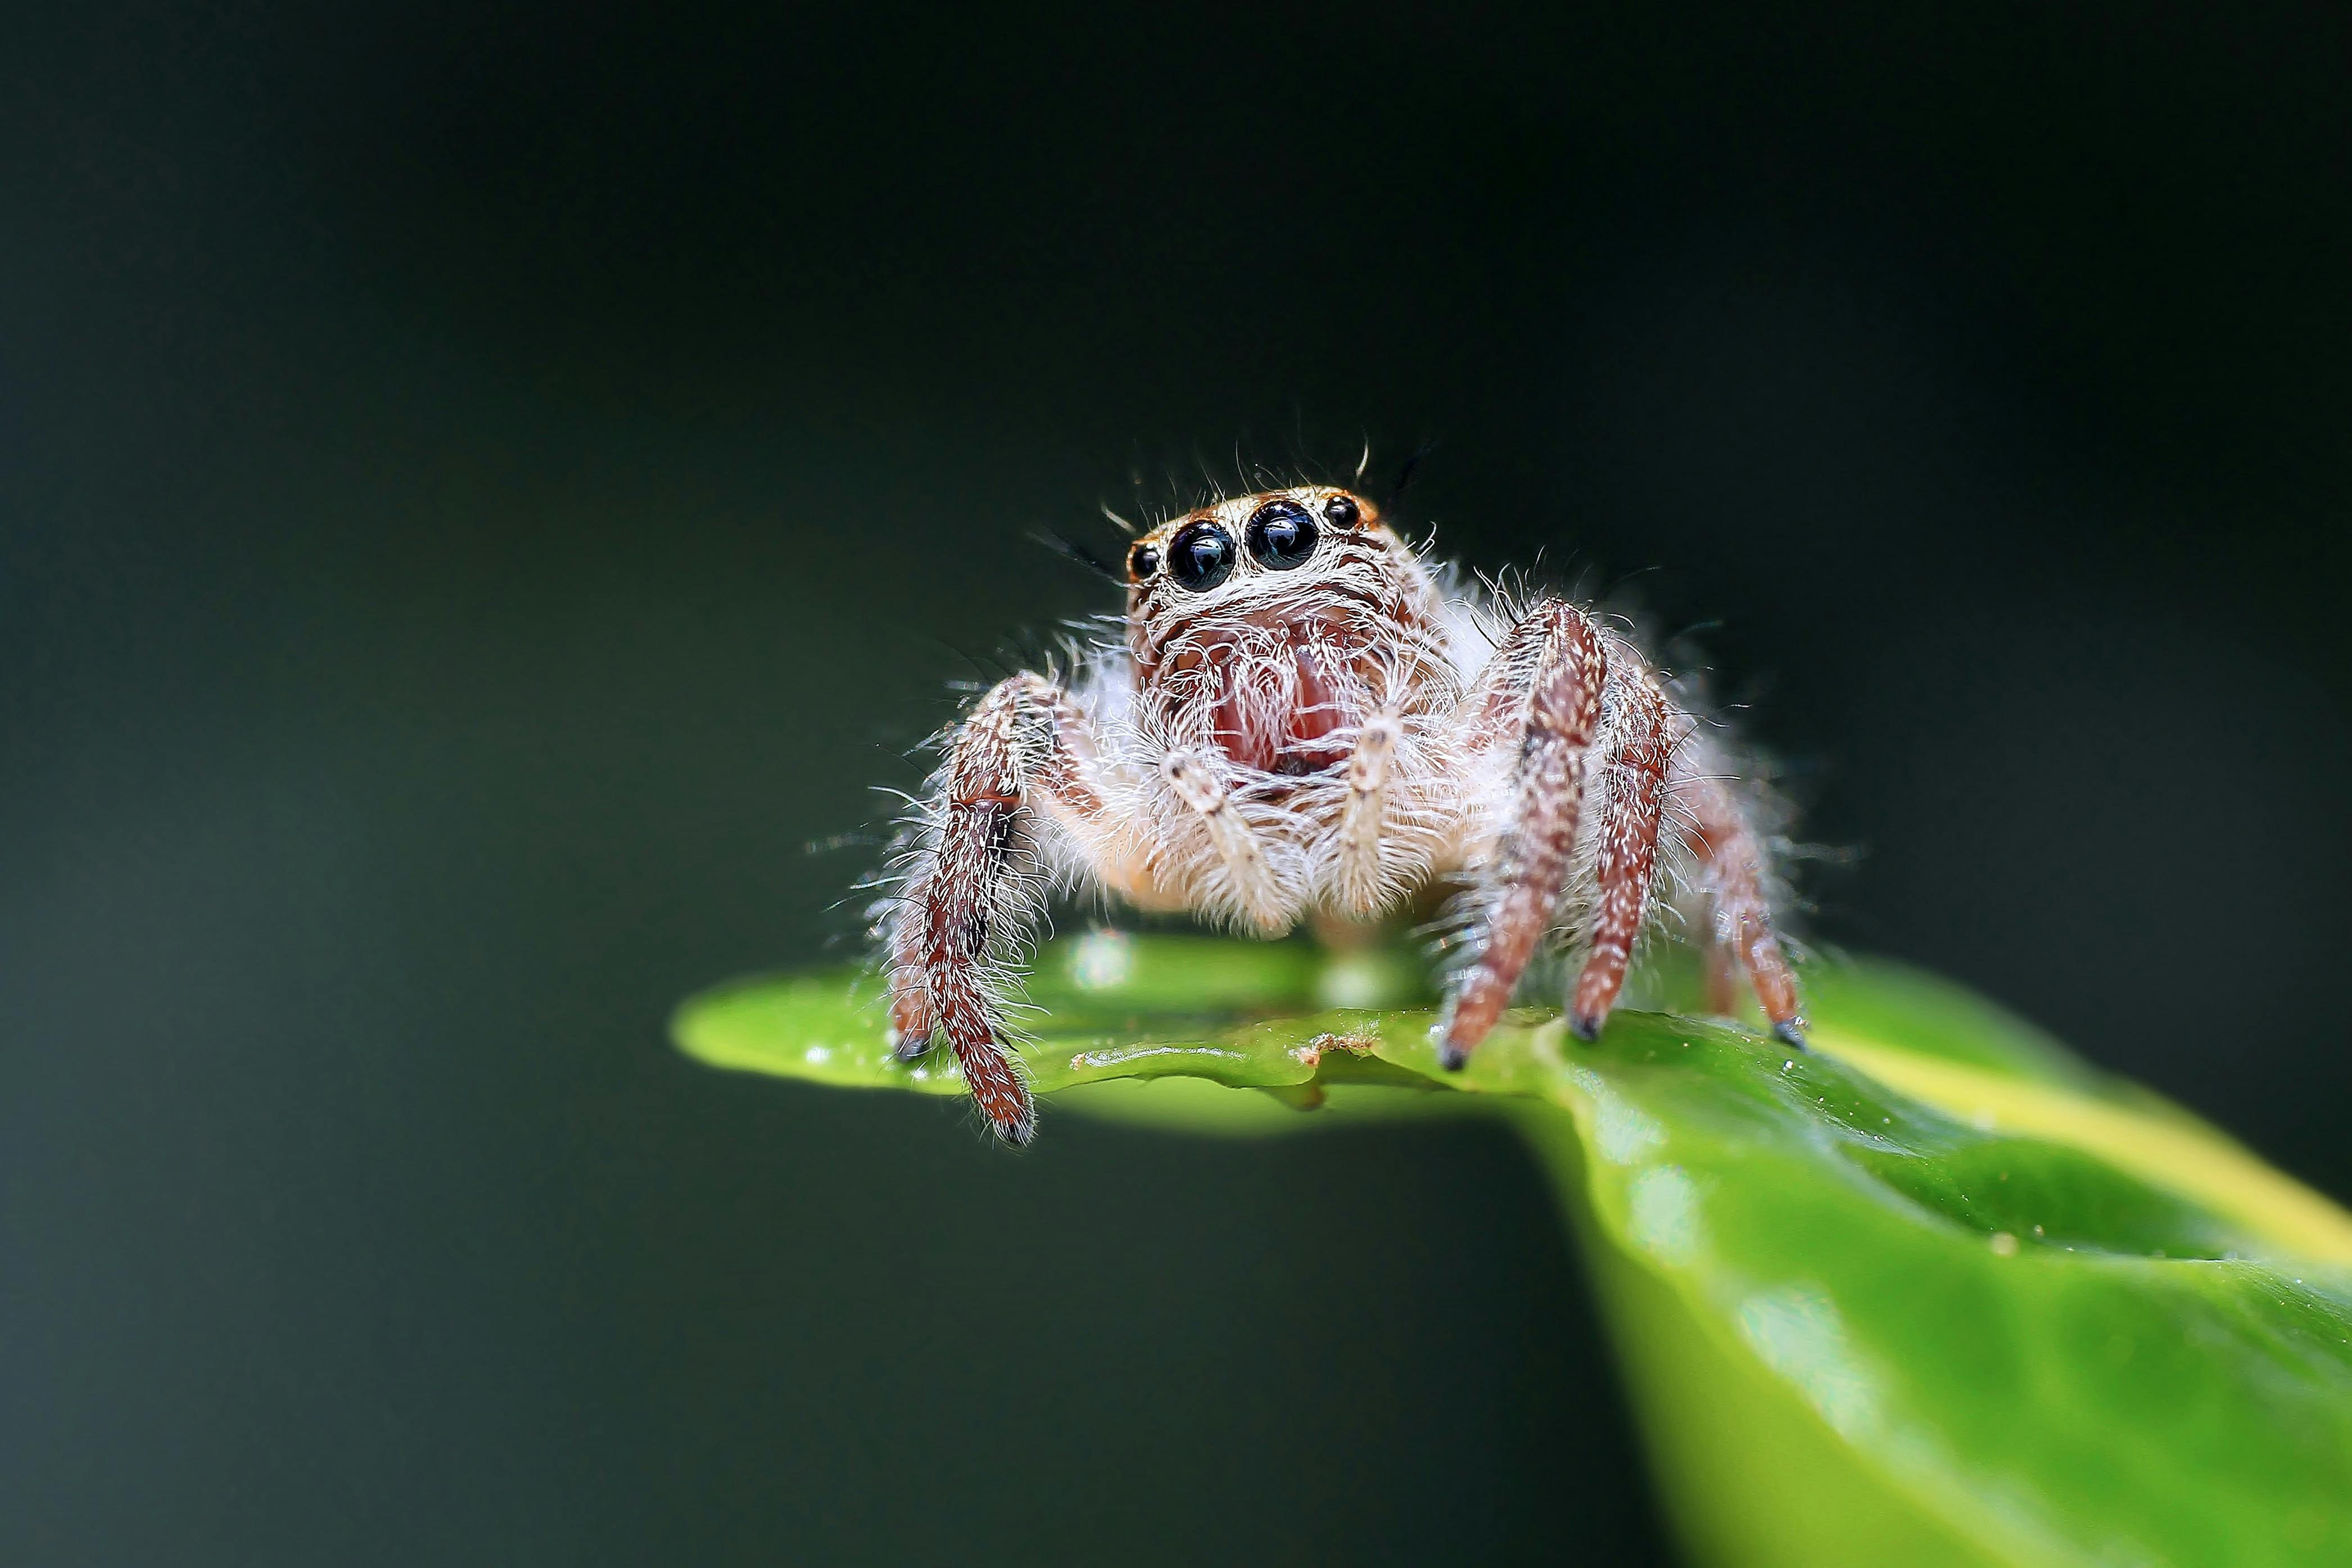
{"label": "glossy green leaf with yellow midrib under the spider", "polygon": [[[1040,954],[1023,1058],[1054,1105],[1200,1133],[1510,1117],[1705,1561],[2352,1561],[2352,1215],[1957,987],[1806,980],[1809,1056],[1512,1013],[1446,1074],[1404,954],[1094,933]],[[891,1058],[861,976],[739,983],[675,1032],[962,1091]]]}

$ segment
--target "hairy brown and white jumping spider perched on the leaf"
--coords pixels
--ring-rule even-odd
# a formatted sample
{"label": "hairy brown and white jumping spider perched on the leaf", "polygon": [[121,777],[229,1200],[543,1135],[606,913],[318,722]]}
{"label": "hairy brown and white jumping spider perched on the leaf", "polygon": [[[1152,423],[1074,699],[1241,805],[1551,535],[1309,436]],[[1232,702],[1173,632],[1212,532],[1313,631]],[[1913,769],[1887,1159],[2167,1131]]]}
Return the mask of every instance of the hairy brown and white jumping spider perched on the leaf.
{"label": "hairy brown and white jumping spider perched on the leaf", "polygon": [[1279,936],[1451,886],[1432,1037],[1454,1070],[1562,938],[1583,957],[1569,1030],[1597,1039],[1675,907],[1715,1011],[1745,971],[1804,1046],[1771,797],[1628,632],[1432,569],[1324,484],[1174,517],[1124,576],[1124,639],[1068,682],[1000,682],[948,731],[875,905],[891,1046],[946,1039],[1000,1138],[1037,1128],[1007,994],[1056,889]]}

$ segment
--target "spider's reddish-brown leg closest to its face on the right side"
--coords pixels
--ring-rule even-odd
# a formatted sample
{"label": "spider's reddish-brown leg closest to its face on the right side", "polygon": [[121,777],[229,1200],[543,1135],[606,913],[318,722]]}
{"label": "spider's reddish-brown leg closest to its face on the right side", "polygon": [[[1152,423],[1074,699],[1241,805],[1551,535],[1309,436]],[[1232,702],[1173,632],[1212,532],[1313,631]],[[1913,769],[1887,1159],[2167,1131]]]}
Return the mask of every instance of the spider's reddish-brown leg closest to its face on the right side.
{"label": "spider's reddish-brown leg closest to its face on the right side", "polygon": [[1583,611],[1552,602],[1512,628],[1494,665],[1496,684],[1472,693],[1470,722],[1503,717],[1508,729],[1501,738],[1517,736],[1519,762],[1510,816],[1468,933],[1477,957],[1437,1025],[1437,1060],[1449,1070],[1470,1060],[1477,1041],[1494,1030],[1552,926],[1576,851],[1585,750],[1599,719],[1609,654]]}

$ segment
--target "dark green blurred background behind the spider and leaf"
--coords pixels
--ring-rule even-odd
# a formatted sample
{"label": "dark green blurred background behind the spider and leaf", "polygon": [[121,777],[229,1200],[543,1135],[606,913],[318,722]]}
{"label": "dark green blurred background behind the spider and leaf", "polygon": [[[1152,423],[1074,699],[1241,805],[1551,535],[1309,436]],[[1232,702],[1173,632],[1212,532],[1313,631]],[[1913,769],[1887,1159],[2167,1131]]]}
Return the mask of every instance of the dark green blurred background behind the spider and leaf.
{"label": "dark green blurred background behind the spider and leaf", "polygon": [[2338,12],[28,12],[12,1561],[1661,1559],[1498,1128],[663,1041],[1115,604],[1033,529],[1367,437],[1719,623],[1820,943],[2352,1194]]}

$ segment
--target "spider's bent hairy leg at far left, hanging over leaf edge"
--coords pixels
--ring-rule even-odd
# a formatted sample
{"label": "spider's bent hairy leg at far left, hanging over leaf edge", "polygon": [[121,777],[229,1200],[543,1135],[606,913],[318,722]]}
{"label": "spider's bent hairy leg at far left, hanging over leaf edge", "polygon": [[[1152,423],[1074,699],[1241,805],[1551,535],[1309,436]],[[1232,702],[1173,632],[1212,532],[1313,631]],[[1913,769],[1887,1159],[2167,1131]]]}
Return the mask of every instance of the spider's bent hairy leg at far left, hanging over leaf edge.
{"label": "spider's bent hairy leg at far left, hanging over leaf edge", "polygon": [[891,1037],[903,1058],[946,1034],[971,1098],[1007,1143],[1037,1107],[1004,1039],[1002,971],[1037,919],[1035,835],[1061,830],[1091,860],[1108,835],[1094,726],[1042,675],[997,684],[955,731],[906,882],[884,905]]}

